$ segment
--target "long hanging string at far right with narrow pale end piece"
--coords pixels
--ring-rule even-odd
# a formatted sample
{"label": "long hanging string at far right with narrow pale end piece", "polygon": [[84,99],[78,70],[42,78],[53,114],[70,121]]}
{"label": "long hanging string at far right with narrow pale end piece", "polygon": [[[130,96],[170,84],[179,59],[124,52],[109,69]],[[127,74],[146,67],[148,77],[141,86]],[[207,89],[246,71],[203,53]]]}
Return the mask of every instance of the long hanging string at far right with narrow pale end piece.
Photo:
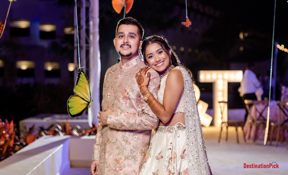
{"label": "long hanging string at far right with narrow pale end piece", "polygon": [[[272,81],[272,64],[273,64],[273,49],[274,49],[274,28],[275,28],[275,11],[276,11],[276,0],[274,3],[274,19],[273,19],[273,35],[272,35],[272,53],[271,53],[271,68],[270,68],[270,85],[269,85],[269,103],[268,103],[268,112],[267,112],[267,124],[265,129],[265,138],[264,145],[266,144],[268,137],[268,128],[269,128],[269,113],[270,113],[270,98],[271,98],[271,81]],[[276,75],[274,75],[276,76]]]}

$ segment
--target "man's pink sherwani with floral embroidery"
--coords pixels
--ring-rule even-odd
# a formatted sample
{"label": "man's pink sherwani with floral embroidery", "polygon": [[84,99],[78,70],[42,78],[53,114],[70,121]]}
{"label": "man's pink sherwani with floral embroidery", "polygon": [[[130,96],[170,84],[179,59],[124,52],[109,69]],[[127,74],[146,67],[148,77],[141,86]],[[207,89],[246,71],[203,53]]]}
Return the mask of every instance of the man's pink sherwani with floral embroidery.
{"label": "man's pink sherwani with floral embroidery", "polygon": [[[151,130],[159,118],[143,99],[135,75],[145,63],[136,57],[110,67],[104,79],[102,108],[112,109],[107,124],[98,127],[93,160],[99,160],[98,175],[134,175],[149,147]],[[157,99],[160,77],[149,69],[148,89]],[[144,94],[146,95],[146,94]]]}

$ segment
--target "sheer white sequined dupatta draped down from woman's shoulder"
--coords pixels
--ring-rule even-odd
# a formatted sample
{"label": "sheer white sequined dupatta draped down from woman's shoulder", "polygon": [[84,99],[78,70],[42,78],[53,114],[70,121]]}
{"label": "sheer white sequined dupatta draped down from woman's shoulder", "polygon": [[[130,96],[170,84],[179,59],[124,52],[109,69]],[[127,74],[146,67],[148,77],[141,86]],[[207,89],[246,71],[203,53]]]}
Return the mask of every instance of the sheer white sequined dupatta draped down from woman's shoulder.
{"label": "sheer white sequined dupatta draped down from woman's shoulder", "polygon": [[186,155],[189,175],[212,175],[192,79],[185,68],[177,66],[175,69],[181,70],[184,78]]}

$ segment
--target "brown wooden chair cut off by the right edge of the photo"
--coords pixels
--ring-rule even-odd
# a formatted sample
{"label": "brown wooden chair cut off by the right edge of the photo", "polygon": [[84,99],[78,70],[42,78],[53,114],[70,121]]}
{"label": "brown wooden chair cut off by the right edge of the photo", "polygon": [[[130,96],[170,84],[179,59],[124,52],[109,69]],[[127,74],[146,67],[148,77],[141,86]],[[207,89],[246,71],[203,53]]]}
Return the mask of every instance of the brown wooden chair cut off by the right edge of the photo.
{"label": "brown wooden chair cut off by the right edge of the photo", "polygon": [[[280,135],[280,129],[282,128],[282,134],[281,134],[281,139],[280,142],[283,143],[283,135],[284,135],[284,131],[286,128],[288,128],[288,102],[287,101],[277,101],[277,104],[279,106],[278,108],[278,121],[277,122],[271,122],[271,129],[270,129],[270,145],[272,144],[272,137],[273,137],[273,130],[274,127],[277,128],[277,135],[276,135],[276,142],[275,142],[275,146],[278,146],[278,139],[279,139],[279,135]],[[282,114],[286,117],[285,121],[281,122],[281,111],[283,112]],[[287,149],[288,149],[288,144],[287,144]]]}

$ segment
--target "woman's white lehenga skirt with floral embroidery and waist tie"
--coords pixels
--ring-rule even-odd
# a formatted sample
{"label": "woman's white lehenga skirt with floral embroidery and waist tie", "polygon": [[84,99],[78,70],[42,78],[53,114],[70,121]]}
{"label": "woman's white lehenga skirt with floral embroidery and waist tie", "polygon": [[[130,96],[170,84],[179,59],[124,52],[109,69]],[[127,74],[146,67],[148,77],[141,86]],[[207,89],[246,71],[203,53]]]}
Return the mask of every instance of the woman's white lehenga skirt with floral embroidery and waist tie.
{"label": "woman's white lehenga skirt with floral embroidery and waist tie", "polygon": [[[174,132],[173,132],[174,129]],[[177,130],[177,131],[176,131]],[[174,138],[174,139],[173,139]],[[174,140],[174,142],[173,142]],[[174,157],[172,165],[172,145]],[[140,167],[140,175],[188,175],[185,125],[158,126]]]}

